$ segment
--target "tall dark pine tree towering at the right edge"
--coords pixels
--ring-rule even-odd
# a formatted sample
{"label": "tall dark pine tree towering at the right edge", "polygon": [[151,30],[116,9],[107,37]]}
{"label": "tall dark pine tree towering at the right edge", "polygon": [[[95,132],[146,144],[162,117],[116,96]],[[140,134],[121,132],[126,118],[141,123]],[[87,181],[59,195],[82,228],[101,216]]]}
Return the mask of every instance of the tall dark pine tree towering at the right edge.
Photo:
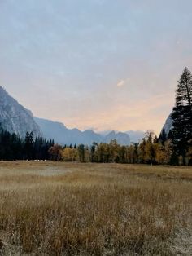
{"label": "tall dark pine tree towering at the right edge", "polygon": [[178,81],[172,112],[172,143],[177,156],[186,156],[192,137],[192,75],[185,68]]}

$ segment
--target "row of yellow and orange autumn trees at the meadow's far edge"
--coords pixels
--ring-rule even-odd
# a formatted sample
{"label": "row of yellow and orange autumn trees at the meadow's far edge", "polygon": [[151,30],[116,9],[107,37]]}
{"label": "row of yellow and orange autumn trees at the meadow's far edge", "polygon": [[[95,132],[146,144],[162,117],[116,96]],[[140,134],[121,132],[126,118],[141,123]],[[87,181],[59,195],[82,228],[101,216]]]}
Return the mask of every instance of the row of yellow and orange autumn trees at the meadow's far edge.
{"label": "row of yellow and orange autumn trees at the meadow's far edge", "polygon": [[175,164],[171,140],[161,141],[153,132],[147,132],[141,143],[122,146],[111,140],[110,143],[93,143],[90,147],[58,144],[49,150],[51,160],[81,161],[97,163],[130,164]]}

